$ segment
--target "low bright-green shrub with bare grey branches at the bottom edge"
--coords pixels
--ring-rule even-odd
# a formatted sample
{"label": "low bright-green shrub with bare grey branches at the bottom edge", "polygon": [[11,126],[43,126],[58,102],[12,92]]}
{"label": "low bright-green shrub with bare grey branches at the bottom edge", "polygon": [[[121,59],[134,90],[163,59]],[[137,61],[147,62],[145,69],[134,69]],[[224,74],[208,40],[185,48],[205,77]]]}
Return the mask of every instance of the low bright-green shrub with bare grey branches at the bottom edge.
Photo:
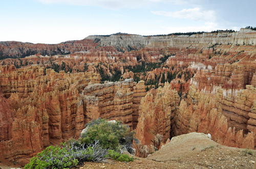
{"label": "low bright-green shrub with bare grey branches at the bottom edge", "polygon": [[83,161],[101,161],[108,154],[102,149],[99,142],[94,144],[75,146],[73,142],[61,143],[60,146],[49,146],[38,153],[25,165],[25,169],[41,168],[69,168]]}

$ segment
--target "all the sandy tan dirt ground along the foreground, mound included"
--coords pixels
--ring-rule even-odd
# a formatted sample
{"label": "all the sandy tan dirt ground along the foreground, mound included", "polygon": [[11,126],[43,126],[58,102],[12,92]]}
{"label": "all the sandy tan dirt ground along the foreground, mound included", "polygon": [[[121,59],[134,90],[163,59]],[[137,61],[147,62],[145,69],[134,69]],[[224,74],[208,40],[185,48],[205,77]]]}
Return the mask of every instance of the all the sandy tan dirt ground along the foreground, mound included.
{"label": "all the sandy tan dirt ground along the foreground, mound included", "polygon": [[[245,155],[245,149],[221,146],[202,133],[189,133],[174,137],[161,150],[146,159],[134,157],[134,162],[108,160],[86,162],[86,168],[253,168],[253,151]],[[1,159],[0,159],[1,160]],[[1,160],[2,161],[2,160]],[[9,166],[8,166],[9,165]],[[13,163],[2,161],[0,168],[18,168]]]}

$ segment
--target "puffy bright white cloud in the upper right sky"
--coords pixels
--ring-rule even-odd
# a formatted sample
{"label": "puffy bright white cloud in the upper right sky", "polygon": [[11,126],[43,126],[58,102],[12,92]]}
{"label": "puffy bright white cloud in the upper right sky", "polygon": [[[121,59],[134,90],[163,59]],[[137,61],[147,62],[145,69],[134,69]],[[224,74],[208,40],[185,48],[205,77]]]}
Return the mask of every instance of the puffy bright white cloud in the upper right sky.
{"label": "puffy bright white cloud in the upper right sky", "polygon": [[215,20],[214,11],[202,11],[200,8],[194,9],[183,9],[176,12],[165,12],[165,11],[151,11],[156,15],[164,15],[173,18],[189,19],[189,20],[202,20],[206,22],[212,22]]}

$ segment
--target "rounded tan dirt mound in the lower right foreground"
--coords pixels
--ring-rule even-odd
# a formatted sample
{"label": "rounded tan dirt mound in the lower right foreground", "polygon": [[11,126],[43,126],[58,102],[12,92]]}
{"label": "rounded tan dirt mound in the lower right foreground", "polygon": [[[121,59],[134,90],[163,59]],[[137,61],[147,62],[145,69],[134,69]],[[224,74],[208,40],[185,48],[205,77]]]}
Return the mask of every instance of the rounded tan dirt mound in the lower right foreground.
{"label": "rounded tan dirt mound in the lower right foreground", "polygon": [[255,157],[245,155],[245,151],[221,146],[202,133],[189,133],[175,137],[147,159],[167,164],[178,162],[174,168],[253,168]]}

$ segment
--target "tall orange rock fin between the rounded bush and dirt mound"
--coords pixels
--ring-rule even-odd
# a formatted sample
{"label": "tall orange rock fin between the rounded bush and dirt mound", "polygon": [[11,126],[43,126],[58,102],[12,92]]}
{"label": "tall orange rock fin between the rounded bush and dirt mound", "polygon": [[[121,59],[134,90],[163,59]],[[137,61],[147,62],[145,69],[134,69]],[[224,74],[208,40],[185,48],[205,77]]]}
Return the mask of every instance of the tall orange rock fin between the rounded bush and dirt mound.
{"label": "tall orange rock fin between the rounded bush and dirt mound", "polygon": [[136,128],[137,138],[142,145],[151,145],[151,140],[157,134],[163,135],[163,142],[170,138],[170,120],[176,115],[179,102],[177,91],[172,90],[169,83],[165,83],[163,88],[147,92],[141,99]]}

